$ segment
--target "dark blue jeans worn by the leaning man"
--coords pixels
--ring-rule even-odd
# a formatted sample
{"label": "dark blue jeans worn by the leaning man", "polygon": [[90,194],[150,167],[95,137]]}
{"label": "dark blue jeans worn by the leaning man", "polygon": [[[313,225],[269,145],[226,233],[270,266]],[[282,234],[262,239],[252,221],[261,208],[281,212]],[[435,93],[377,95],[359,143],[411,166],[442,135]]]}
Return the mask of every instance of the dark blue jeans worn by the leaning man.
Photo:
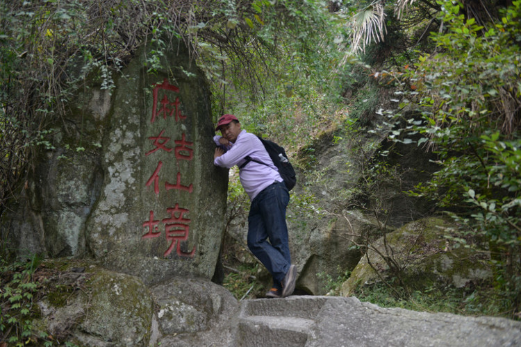
{"label": "dark blue jeans worn by the leaning man", "polygon": [[270,271],[274,287],[279,289],[291,265],[286,226],[286,207],[289,202],[290,194],[286,185],[276,182],[263,189],[251,201],[248,215],[248,248]]}

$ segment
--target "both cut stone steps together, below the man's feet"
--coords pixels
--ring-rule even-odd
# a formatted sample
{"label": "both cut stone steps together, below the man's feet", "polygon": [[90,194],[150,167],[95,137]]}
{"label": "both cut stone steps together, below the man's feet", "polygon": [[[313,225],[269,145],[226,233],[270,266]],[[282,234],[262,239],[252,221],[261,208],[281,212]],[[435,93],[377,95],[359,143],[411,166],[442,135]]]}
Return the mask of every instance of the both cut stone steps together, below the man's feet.
{"label": "both cut stone steps together, below the man's feet", "polygon": [[235,346],[306,346],[326,297],[306,296],[242,302]]}

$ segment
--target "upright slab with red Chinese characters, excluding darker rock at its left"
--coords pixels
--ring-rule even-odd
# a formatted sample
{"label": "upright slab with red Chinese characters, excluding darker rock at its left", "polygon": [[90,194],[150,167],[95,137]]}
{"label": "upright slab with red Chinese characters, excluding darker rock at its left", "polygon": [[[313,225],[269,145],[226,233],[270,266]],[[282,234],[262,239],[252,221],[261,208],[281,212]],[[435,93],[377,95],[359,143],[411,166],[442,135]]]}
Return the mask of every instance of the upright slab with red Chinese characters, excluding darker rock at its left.
{"label": "upright slab with red Chinese characters, excluding darker rock at its left", "polygon": [[188,55],[167,58],[172,73],[146,74],[143,51],[119,79],[103,189],[85,227],[95,257],[147,284],[179,273],[211,278],[226,205],[206,83]]}

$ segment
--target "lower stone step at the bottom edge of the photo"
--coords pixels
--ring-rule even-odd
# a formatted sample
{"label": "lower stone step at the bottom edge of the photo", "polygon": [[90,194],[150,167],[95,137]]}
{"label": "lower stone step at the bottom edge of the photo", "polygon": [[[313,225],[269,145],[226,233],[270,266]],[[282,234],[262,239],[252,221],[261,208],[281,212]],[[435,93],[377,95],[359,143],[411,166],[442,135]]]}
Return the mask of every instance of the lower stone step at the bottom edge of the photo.
{"label": "lower stone step at the bottom edge of the photo", "polygon": [[304,347],[315,322],[283,316],[245,316],[238,324],[238,347]]}

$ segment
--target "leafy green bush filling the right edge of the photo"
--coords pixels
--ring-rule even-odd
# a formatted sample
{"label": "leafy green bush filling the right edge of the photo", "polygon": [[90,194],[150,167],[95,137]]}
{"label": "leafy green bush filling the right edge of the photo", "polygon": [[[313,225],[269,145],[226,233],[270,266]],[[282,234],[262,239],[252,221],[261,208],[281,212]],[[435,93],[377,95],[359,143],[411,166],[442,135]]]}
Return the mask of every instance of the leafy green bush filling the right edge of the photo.
{"label": "leafy green bush filling the right edge of the photo", "polygon": [[440,158],[440,171],[415,194],[435,198],[466,230],[490,241],[496,279],[518,310],[521,1],[487,28],[465,18],[459,3],[438,4],[447,31],[431,35],[437,53],[420,57],[414,69],[394,72],[402,81],[402,107],[423,116],[406,119],[404,130]]}

